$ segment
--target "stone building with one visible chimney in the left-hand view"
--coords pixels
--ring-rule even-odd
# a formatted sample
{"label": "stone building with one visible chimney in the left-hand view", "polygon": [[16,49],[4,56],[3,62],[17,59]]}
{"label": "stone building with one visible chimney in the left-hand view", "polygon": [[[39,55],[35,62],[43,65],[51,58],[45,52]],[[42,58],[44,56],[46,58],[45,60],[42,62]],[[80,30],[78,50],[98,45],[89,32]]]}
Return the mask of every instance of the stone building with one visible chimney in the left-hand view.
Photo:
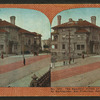
{"label": "stone building with one visible chimney in the left-hand view", "polygon": [[41,49],[41,35],[15,25],[15,16],[11,22],[0,19],[0,52],[8,54],[33,53]]}

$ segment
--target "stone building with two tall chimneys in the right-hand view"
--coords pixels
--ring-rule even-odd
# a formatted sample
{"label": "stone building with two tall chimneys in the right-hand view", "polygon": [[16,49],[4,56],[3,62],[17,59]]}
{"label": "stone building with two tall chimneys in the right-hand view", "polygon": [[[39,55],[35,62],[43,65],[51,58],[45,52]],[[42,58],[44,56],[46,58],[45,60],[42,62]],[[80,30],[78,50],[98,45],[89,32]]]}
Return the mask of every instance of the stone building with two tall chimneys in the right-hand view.
{"label": "stone building with two tall chimneys in the right-hand view", "polygon": [[61,24],[61,16],[57,16],[58,25],[52,27],[51,52],[59,60],[84,53],[100,54],[100,27],[96,25],[96,17],[91,17],[91,23],[72,18]]}

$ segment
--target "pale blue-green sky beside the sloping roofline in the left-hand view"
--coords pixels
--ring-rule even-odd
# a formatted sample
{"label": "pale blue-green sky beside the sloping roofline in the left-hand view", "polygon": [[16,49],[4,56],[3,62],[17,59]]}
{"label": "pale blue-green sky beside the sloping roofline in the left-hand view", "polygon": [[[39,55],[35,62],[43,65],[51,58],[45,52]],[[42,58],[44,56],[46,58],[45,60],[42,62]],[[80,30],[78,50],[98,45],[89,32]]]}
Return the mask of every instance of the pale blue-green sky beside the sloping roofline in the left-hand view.
{"label": "pale blue-green sky beside the sloping roofline in the left-hand view", "polygon": [[50,22],[42,12],[32,9],[0,8],[0,19],[10,22],[10,16],[16,16],[15,25],[42,34],[43,40],[50,38]]}

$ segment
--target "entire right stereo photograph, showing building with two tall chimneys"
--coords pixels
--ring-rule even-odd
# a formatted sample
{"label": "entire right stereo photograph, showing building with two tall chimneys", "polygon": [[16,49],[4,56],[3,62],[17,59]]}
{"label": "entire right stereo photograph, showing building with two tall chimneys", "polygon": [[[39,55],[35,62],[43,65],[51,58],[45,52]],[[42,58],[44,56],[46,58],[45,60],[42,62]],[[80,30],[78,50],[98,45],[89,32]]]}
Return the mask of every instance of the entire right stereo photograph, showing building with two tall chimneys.
{"label": "entire right stereo photograph, showing building with two tall chimneys", "polygon": [[58,13],[51,24],[51,86],[100,86],[100,8]]}

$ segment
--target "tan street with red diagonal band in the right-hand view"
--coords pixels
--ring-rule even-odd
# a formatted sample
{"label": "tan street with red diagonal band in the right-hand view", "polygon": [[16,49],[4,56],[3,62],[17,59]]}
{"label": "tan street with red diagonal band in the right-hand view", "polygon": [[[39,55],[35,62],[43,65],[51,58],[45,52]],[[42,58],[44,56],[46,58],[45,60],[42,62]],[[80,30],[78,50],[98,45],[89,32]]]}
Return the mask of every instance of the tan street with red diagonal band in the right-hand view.
{"label": "tan street with red diagonal band in the right-hand view", "polygon": [[98,80],[100,80],[100,55],[78,58],[65,66],[62,62],[56,63],[51,73],[52,87],[93,86]]}

